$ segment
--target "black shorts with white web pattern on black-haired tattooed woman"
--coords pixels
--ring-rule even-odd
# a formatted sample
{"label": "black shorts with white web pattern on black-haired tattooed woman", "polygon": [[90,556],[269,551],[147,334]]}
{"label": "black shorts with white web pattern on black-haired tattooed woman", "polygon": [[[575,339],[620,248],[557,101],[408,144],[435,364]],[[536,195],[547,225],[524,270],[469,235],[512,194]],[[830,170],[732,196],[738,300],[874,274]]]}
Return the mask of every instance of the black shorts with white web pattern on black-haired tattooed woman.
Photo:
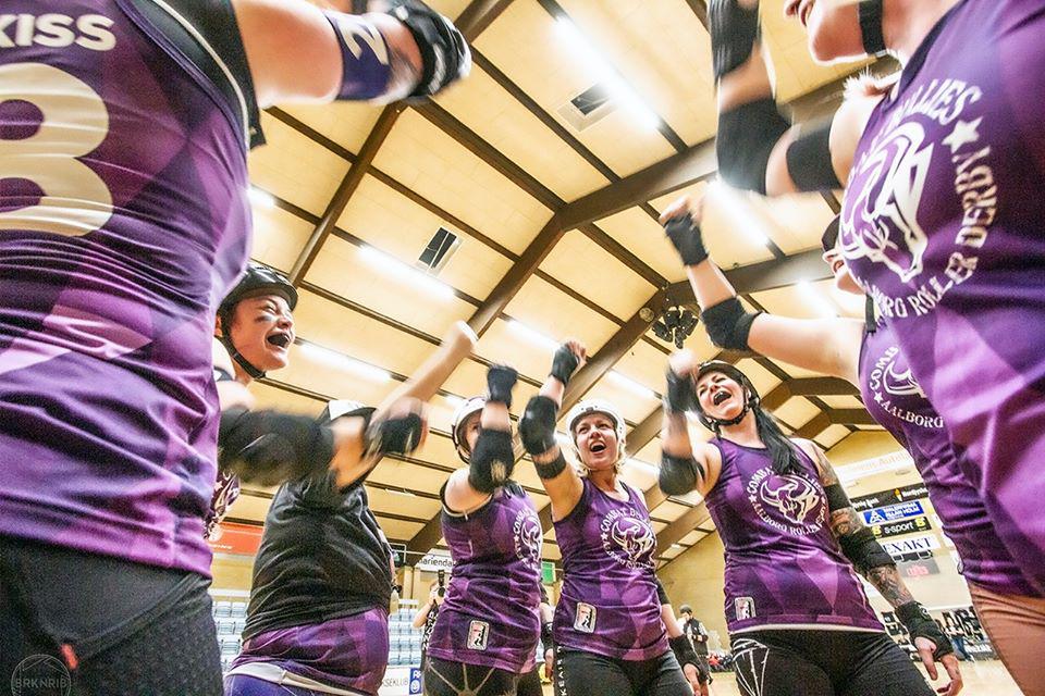
{"label": "black shorts with white web pattern on black-haired tattooed woman", "polygon": [[750,631],[732,636],[745,696],[934,696],[885,633]]}

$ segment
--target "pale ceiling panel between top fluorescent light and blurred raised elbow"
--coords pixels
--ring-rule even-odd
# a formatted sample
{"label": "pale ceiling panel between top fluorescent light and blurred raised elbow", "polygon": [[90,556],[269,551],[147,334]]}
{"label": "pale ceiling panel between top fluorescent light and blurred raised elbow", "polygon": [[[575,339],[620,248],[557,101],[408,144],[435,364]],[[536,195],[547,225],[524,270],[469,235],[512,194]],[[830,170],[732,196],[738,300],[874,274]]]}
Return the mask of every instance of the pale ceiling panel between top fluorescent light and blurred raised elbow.
{"label": "pale ceiling panel between top fluorescent light and blurred raised elbow", "polygon": [[686,0],[563,0],[561,4],[683,140],[693,145],[714,135],[711,37]]}

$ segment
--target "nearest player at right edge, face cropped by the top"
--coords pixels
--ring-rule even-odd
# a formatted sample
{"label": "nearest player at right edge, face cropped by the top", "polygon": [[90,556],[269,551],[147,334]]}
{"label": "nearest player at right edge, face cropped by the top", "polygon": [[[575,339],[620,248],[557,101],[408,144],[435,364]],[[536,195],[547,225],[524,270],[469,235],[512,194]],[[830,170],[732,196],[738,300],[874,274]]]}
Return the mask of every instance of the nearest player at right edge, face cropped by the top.
{"label": "nearest player at right edge, face cropped by the top", "polygon": [[[821,62],[890,54],[828,124],[777,111],[757,0],[711,4],[723,178],[771,196],[843,188],[838,249],[943,421],[998,538],[1045,592],[1045,13],[1020,0],[788,0]],[[983,50],[970,50],[983,47]],[[984,390],[971,384],[989,385]],[[979,592],[1004,617],[1025,609]],[[1043,608],[1035,602],[1038,631]],[[1018,679],[1045,672],[995,623]]]}

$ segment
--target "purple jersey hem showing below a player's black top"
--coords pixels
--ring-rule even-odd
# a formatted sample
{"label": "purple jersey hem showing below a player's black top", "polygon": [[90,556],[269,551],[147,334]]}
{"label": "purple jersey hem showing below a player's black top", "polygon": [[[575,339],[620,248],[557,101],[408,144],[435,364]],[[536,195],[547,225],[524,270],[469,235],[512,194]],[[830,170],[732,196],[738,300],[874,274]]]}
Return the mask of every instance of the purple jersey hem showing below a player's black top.
{"label": "purple jersey hem showing below a player's black top", "polygon": [[271,662],[337,688],[377,694],[389,664],[389,612],[378,607],[258,634],[244,642],[232,669],[251,662]]}

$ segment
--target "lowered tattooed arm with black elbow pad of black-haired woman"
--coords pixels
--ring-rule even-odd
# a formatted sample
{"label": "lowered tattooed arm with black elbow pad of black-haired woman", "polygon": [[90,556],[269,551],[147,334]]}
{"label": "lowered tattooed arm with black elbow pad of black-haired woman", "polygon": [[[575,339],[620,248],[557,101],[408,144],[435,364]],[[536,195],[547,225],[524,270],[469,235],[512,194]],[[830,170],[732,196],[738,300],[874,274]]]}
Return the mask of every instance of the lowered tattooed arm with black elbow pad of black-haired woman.
{"label": "lowered tattooed arm with black elbow pad of black-haired woman", "polygon": [[843,554],[857,572],[866,577],[896,610],[897,618],[910,635],[911,643],[918,649],[919,657],[933,680],[937,678],[935,662],[943,663],[950,676],[950,684],[946,689],[942,689],[942,693],[954,696],[961,689],[961,673],[950,639],[944,635],[925,608],[914,599],[896,569],[896,561],[863,524],[827,457],[809,440],[796,440],[796,444],[810,455],[816,464],[831,510],[831,531],[838,539]]}

